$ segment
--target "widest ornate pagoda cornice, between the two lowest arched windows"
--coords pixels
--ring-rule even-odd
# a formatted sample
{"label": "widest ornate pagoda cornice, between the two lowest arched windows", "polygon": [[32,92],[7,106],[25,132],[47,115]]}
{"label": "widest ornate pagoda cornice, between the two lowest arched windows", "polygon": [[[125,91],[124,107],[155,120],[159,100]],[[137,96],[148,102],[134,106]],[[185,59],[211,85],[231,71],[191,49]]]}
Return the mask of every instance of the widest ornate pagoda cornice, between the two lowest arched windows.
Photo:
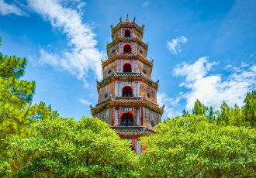
{"label": "widest ornate pagoda cornice, between the two lowest arched windows", "polygon": [[150,109],[151,111],[155,111],[160,115],[164,113],[164,106],[159,107],[158,104],[154,104],[143,97],[112,97],[109,100],[103,101],[94,107],[91,106],[92,115],[95,115],[103,110],[108,108],[113,108],[116,106],[124,106],[124,107],[137,107],[143,106],[145,108]]}

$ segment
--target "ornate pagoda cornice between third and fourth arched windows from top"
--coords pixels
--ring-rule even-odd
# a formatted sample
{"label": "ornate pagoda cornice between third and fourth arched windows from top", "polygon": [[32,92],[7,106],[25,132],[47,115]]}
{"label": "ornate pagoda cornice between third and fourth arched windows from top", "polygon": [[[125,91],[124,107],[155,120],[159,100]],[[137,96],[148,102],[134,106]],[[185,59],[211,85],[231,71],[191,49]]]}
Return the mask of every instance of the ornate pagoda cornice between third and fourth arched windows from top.
{"label": "ornate pagoda cornice between third and fourth arched windows from top", "polygon": [[145,77],[143,74],[140,73],[116,73],[114,72],[109,77],[106,77],[101,82],[97,81],[97,89],[99,91],[100,88],[106,86],[107,84],[115,81],[115,80],[122,80],[122,81],[130,81],[130,80],[140,80],[143,81],[145,84],[150,85],[151,87],[154,87],[156,90],[158,89],[158,82],[154,82],[153,80],[150,80],[149,78]]}

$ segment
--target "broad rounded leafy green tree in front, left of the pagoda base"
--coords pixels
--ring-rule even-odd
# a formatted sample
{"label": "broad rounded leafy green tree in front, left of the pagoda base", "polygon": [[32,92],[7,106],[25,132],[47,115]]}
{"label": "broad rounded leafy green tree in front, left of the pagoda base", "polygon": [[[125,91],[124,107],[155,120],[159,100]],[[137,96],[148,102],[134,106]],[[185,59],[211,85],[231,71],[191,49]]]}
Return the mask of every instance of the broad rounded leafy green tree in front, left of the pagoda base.
{"label": "broad rounded leafy green tree in front, left of the pagoda base", "polygon": [[134,176],[136,155],[130,142],[97,118],[46,118],[33,134],[9,139],[12,175],[18,177]]}

